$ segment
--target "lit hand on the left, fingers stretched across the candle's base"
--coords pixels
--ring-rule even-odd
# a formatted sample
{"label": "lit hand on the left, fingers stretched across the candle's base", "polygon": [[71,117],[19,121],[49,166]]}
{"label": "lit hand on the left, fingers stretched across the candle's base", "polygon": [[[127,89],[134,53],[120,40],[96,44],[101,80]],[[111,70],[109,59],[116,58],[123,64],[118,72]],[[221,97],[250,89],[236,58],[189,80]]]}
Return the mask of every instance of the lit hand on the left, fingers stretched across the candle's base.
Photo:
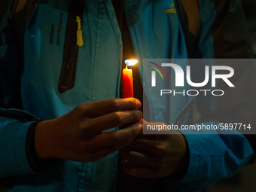
{"label": "lit hand on the left, fingers stretched across the candle's base", "polygon": [[[90,162],[99,160],[133,141],[143,132],[138,99],[108,99],[87,102],[35,128],[35,150],[43,159],[57,158]],[[129,110],[129,111],[125,111]],[[132,126],[102,133],[115,126]]]}

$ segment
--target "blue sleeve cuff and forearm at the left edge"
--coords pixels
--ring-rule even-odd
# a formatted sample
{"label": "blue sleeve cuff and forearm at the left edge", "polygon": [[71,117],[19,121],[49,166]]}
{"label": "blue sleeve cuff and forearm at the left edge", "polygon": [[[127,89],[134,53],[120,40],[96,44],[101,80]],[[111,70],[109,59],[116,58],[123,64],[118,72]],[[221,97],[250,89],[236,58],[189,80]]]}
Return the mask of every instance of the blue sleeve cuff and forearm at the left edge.
{"label": "blue sleeve cuff and forearm at the left edge", "polygon": [[34,172],[26,157],[26,135],[31,123],[6,118],[0,123],[0,178]]}

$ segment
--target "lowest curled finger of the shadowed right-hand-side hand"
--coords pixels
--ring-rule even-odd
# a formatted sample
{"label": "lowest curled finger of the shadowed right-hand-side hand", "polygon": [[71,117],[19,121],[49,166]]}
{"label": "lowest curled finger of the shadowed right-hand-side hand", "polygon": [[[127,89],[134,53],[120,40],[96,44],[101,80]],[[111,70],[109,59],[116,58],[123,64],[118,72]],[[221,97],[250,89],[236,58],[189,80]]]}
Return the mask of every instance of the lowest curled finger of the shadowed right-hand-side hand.
{"label": "lowest curled finger of the shadowed right-hand-side hand", "polygon": [[154,178],[158,175],[156,169],[148,165],[130,163],[127,160],[122,161],[123,171],[137,178]]}

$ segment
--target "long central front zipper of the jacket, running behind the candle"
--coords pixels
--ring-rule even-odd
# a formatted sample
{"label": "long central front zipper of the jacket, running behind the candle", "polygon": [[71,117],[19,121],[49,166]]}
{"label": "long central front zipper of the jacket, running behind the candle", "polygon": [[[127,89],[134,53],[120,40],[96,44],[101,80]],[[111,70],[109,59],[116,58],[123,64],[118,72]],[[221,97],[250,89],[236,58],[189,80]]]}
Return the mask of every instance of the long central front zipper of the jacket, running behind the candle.
{"label": "long central front zipper of the jacket, running behind the candle", "polygon": [[[130,20],[129,17],[127,15],[127,8],[126,8],[126,2],[125,0],[123,0],[123,5],[124,5],[124,12],[126,14],[126,20],[127,20],[127,25],[128,25],[128,29],[129,29],[129,34],[130,34],[130,38],[132,40],[132,44],[133,44],[133,53],[136,56],[136,58],[139,58],[137,53],[136,53],[136,48],[135,48],[135,44],[134,44],[134,40],[133,40],[133,35],[132,35],[132,31],[131,31],[131,27],[130,27]],[[143,91],[145,93],[145,96],[147,97],[148,100],[148,107],[149,107],[149,120],[152,121],[152,106],[151,106],[151,102],[149,100],[149,96],[147,91],[145,90],[145,86],[143,84],[143,78],[142,78],[142,72],[139,70],[139,65],[137,65],[138,68],[138,72],[139,72],[139,79],[141,81],[142,87],[143,87]]]}

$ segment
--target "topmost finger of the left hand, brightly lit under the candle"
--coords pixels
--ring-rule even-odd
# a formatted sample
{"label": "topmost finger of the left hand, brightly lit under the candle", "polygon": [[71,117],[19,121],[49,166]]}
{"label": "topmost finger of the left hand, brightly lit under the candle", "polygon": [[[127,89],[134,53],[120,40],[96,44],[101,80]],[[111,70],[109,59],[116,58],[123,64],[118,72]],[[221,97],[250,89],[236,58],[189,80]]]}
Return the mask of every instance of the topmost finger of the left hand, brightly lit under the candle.
{"label": "topmost finger of the left hand, brightly lit under the candle", "polygon": [[107,99],[99,102],[87,102],[81,105],[88,117],[99,117],[114,111],[136,110],[142,103],[135,98]]}

